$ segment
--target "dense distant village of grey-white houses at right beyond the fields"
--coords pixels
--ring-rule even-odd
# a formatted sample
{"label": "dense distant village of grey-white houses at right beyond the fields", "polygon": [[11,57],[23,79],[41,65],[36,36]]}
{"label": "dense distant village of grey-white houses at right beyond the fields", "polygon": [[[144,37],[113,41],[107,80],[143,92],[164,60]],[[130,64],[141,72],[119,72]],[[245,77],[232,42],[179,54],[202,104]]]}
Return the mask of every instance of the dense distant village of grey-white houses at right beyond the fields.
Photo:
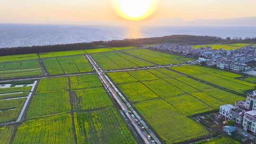
{"label": "dense distant village of grey-white houses at right beyond the fields", "polygon": [[[189,45],[174,44],[159,44],[155,45],[154,48],[170,53],[198,57],[199,63],[232,72],[250,71],[251,67],[246,63],[256,60],[256,48],[254,45],[248,45],[236,50],[213,50],[210,46],[194,49]],[[223,48],[225,47],[223,46]]]}

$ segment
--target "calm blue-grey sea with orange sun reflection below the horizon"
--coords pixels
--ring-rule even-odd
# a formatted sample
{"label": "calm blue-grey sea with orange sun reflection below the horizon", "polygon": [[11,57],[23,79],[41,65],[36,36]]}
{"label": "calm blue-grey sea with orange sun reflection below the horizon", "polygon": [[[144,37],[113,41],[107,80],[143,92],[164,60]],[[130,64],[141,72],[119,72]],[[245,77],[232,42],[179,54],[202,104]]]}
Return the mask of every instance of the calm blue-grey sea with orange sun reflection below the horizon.
{"label": "calm blue-grey sea with orange sun reflection below the horizon", "polygon": [[0,48],[170,35],[219,36],[222,38],[256,37],[256,27],[110,27],[0,24]]}

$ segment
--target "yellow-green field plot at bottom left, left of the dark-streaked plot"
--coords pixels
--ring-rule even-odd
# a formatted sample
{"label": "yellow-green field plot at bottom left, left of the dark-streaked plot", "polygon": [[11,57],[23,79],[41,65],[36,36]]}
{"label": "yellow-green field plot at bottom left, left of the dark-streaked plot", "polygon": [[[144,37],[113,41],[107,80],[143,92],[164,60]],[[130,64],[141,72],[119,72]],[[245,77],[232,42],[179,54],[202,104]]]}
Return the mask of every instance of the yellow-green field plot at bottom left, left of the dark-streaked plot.
{"label": "yellow-green field plot at bottom left, left of the dark-streaked plot", "polygon": [[61,114],[28,120],[18,127],[13,144],[75,144],[72,117]]}

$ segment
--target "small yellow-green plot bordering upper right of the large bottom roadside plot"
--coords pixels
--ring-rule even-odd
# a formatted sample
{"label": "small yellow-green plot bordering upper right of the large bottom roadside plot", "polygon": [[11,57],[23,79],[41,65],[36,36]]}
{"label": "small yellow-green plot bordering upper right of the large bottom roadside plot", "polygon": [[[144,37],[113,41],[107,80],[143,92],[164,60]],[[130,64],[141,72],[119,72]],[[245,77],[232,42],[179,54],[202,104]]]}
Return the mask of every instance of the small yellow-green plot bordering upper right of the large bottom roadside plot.
{"label": "small yellow-green plot bordering upper right of the large bottom roadside plot", "polygon": [[167,101],[181,111],[184,115],[191,116],[213,110],[213,108],[191,95],[182,95],[174,98],[168,98]]}

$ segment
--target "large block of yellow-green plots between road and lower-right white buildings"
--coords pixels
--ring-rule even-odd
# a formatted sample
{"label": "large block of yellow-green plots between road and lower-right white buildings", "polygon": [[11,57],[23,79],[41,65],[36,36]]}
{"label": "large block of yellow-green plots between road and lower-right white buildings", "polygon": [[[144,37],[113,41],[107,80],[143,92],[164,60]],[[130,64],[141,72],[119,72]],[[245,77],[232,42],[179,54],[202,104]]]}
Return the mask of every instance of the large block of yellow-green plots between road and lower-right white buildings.
{"label": "large block of yellow-green plots between road and lower-right white buildings", "polygon": [[165,68],[108,75],[166,144],[208,135],[189,117],[245,99]]}

